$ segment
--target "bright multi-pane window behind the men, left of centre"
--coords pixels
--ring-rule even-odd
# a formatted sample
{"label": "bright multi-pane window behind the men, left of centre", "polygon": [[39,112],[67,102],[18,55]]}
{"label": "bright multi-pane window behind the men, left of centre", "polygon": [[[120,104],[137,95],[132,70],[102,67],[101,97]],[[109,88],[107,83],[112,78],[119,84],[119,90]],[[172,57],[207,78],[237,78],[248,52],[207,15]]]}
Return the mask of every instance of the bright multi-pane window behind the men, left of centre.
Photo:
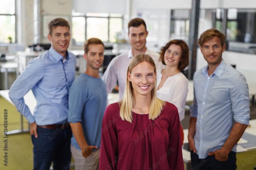
{"label": "bright multi-pane window behind the men, left of centre", "polygon": [[72,15],[72,38],[76,45],[82,45],[92,37],[103,42],[116,42],[116,33],[123,29],[122,14],[72,12]]}

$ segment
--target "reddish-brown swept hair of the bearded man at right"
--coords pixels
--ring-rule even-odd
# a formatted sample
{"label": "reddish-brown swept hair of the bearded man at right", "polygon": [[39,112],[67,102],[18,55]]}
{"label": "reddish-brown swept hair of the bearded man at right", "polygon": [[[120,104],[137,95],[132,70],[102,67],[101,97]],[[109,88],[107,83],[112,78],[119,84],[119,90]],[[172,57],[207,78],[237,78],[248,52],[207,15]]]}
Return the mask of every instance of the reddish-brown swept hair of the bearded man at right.
{"label": "reddish-brown swept hair of the bearded man at right", "polygon": [[200,35],[200,38],[198,39],[197,43],[202,47],[206,41],[211,40],[215,36],[220,38],[221,46],[223,47],[223,45],[225,44],[225,35],[215,28],[203,32]]}

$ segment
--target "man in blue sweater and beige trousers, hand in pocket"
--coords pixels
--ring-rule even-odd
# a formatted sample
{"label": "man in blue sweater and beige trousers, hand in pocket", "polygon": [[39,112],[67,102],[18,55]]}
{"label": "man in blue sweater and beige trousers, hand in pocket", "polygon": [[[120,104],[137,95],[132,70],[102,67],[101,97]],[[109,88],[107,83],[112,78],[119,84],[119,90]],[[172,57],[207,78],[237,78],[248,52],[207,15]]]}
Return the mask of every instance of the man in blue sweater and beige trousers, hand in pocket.
{"label": "man in blue sweater and beige trousers, hand in pocket", "polygon": [[107,104],[106,86],[99,76],[104,44],[98,38],[90,38],[83,48],[87,70],[77,77],[69,91],[71,153],[76,170],[96,170],[99,169],[101,124]]}

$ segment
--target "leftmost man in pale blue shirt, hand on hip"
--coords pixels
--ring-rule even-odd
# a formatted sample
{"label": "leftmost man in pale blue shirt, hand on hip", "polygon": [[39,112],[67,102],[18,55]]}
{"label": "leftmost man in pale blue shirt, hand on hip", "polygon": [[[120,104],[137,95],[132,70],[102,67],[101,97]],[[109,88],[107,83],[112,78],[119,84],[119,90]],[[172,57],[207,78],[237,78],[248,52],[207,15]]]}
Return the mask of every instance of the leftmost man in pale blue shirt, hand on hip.
{"label": "leftmost man in pale blue shirt, hand on hip", "polygon": [[[75,76],[76,56],[67,51],[70,26],[63,18],[48,24],[51,48],[30,61],[9,90],[17,110],[30,123],[34,145],[34,169],[55,170],[70,167],[71,128],[68,118],[68,91]],[[32,89],[37,101],[34,115],[23,96]]]}

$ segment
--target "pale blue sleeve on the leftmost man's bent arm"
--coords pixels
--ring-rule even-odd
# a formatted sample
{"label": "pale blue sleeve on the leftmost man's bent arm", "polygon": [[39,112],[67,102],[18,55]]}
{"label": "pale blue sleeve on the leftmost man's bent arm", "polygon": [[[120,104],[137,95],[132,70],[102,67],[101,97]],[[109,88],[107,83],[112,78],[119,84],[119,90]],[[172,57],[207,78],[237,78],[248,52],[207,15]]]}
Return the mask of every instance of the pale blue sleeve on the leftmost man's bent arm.
{"label": "pale blue sleeve on the leftmost man's bent arm", "polygon": [[9,90],[9,98],[15,104],[17,110],[25,116],[28,122],[34,123],[35,118],[24,102],[24,96],[44,76],[44,66],[39,59],[31,60],[25,70],[14,81]]}

